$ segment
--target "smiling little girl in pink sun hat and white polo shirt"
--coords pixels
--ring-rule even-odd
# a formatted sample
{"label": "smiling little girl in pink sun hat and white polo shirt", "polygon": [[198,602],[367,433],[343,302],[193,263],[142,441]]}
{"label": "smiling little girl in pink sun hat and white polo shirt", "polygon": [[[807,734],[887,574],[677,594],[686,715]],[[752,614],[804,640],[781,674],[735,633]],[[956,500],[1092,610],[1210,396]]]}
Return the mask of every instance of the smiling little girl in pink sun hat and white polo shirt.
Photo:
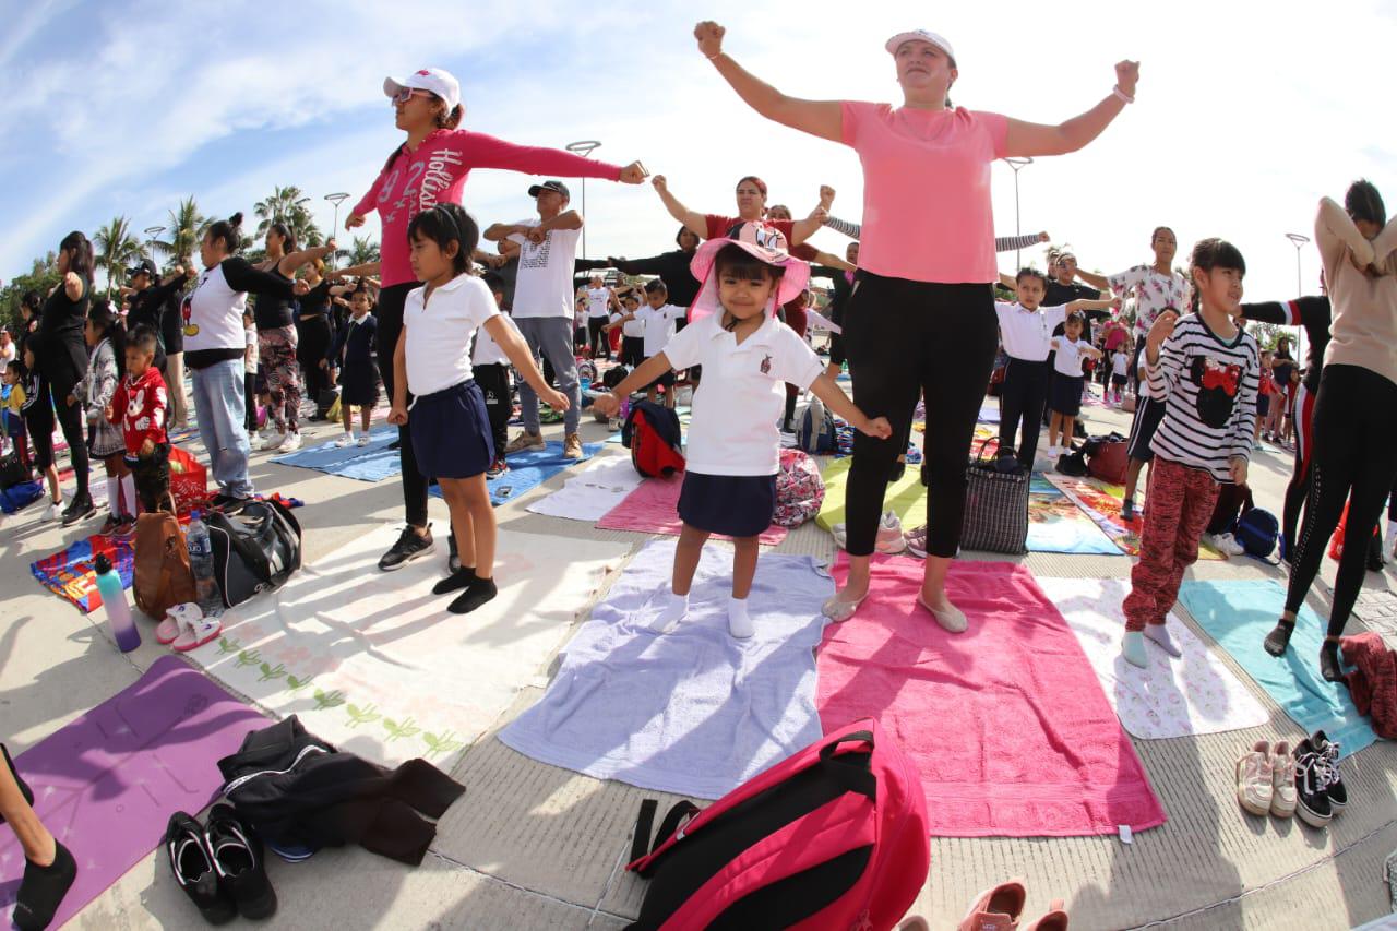
{"label": "smiling little girl in pink sun hat and white polo shirt", "polygon": [[620,398],[661,373],[703,366],[679,495],[683,531],[672,589],[651,628],[665,633],[685,618],[703,545],[711,534],[725,534],[736,548],[728,630],[743,639],[754,632],[747,596],[757,570],[757,538],[771,526],[775,510],[777,422],[785,383],[809,389],[870,436],[887,439],[893,428],[886,418],[870,419],[856,408],[826,373],[820,356],[775,319],[777,306],[805,289],[810,277],[806,263],[752,242],[711,239],[694,253],[692,270],[704,285],[689,326],[595,403],[602,414],[615,417]]}

